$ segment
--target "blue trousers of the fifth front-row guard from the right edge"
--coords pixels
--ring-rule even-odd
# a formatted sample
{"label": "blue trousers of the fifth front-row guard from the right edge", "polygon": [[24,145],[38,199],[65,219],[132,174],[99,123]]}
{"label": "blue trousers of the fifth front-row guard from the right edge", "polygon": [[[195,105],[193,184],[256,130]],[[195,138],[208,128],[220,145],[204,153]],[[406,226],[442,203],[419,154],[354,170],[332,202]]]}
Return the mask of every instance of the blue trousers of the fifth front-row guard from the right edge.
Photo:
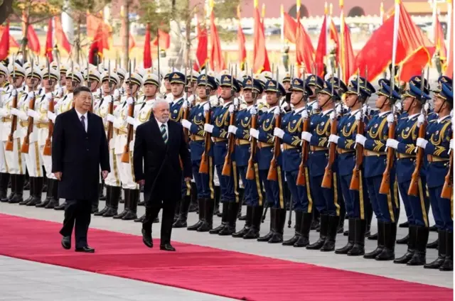
{"label": "blue trousers of the fifth front-row guard from the right edge", "polygon": [[323,175],[310,177],[311,192],[314,197],[314,204],[321,214],[331,216],[340,215],[339,197],[341,197],[338,176],[333,173],[333,183],[330,189],[321,187]]}

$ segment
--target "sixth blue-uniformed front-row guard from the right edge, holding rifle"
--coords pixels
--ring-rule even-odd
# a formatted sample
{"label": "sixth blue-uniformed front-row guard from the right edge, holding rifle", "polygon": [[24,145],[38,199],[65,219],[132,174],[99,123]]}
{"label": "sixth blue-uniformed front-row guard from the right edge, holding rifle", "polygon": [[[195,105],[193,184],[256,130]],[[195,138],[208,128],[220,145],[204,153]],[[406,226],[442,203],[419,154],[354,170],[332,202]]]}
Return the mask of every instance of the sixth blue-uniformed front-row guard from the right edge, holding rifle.
{"label": "sixth blue-uniformed front-row guard from the right edge, holding rifle", "polygon": [[[306,83],[299,79],[292,80],[291,105],[293,110],[283,116],[281,128],[274,128],[274,136],[282,139],[282,160],[283,170],[286,175],[286,182],[291,192],[292,210],[296,214],[294,236],[283,242],[284,246],[308,246],[309,231],[312,220],[312,203],[309,181],[304,186],[297,186],[299,165],[301,164],[301,132],[303,124],[309,118],[309,107],[306,104],[306,97],[311,94],[311,89]],[[309,180],[308,168],[304,168],[305,177]]]}

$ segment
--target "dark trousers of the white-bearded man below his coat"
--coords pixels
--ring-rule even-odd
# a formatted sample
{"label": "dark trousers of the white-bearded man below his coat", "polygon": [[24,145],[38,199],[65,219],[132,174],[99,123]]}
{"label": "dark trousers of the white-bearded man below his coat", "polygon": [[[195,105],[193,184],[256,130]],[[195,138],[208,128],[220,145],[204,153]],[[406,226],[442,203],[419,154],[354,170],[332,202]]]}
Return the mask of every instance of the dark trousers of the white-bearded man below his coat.
{"label": "dark trousers of the white-bearded man below his coat", "polygon": [[147,233],[151,234],[151,225],[154,222],[154,219],[158,217],[159,211],[163,208],[163,214],[161,217],[161,245],[165,243],[171,243],[171,233],[172,233],[172,224],[173,216],[176,211],[176,201],[159,201],[154,199],[147,204],[145,208],[145,219],[142,222],[142,229]]}

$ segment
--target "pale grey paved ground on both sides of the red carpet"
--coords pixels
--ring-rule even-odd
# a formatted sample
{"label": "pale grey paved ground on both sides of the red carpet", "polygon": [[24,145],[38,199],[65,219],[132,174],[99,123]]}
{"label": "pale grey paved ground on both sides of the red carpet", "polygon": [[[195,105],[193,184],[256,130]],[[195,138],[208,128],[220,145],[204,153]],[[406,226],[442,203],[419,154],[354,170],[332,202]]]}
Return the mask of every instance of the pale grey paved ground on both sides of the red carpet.
{"label": "pale grey paved ground on both sides of the red carpet", "polygon": [[[104,202],[100,202],[100,209],[103,206]],[[122,209],[122,206],[123,205],[120,204],[120,209]],[[245,207],[243,210],[245,212]],[[18,206],[17,204],[0,203],[0,212],[4,214],[31,217],[48,221],[60,222],[63,220],[63,212],[58,212],[50,209],[38,209],[35,207],[23,207]],[[138,214],[143,213],[144,207],[139,207]],[[430,223],[434,224],[431,212],[429,216]],[[197,214],[189,214],[188,224],[193,224],[196,221]],[[402,216],[400,217],[400,222],[402,221],[405,221],[404,213],[402,213]],[[375,223],[376,221],[373,219],[372,231],[376,231]],[[220,218],[215,217],[214,225],[218,226],[218,224],[220,224]],[[140,224],[134,223],[133,221],[121,221],[102,217],[93,217],[90,226],[97,229],[105,229],[136,235],[140,235],[141,229]],[[243,222],[239,221],[237,223],[237,229],[240,229],[241,226],[243,226]],[[156,238],[159,236],[159,227],[159,224],[154,224],[154,237]],[[264,224],[262,224],[262,234],[265,234],[268,229],[269,221],[267,217]],[[293,229],[288,229],[286,227],[284,233],[285,239],[291,237],[292,234]],[[405,236],[405,234],[407,234],[407,229],[399,229],[397,236],[400,238],[402,236]],[[315,241],[318,237],[319,234],[316,233],[316,231],[311,231],[311,241]],[[439,270],[426,270],[422,267],[398,266],[392,262],[370,261],[360,257],[349,257],[336,255],[335,253],[309,251],[304,248],[292,248],[276,244],[272,245],[269,243],[258,243],[257,241],[245,241],[243,239],[234,239],[232,237],[222,237],[217,235],[187,231],[186,229],[174,229],[172,238],[174,241],[180,241],[183,243],[194,243],[200,246],[211,246],[225,250],[252,253],[261,256],[281,258],[302,263],[313,263],[318,266],[352,270],[360,273],[382,275],[388,278],[407,280],[416,283],[425,283],[429,285],[438,285],[441,287],[453,288],[453,273],[444,273],[440,272]],[[437,234],[435,232],[431,232],[429,241],[433,241],[436,238]],[[138,239],[140,238],[138,237]],[[344,246],[346,244],[346,241],[346,236],[338,235],[336,246]],[[60,243],[60,241],[55,241],[55,243]],[[90,245],[96,248],[96,241],[90,241]],[[375,246],[376,241],[366,241],[365,248],[367,251],[373,250]],[[397,256],[401,256],[403,253],[405,253],[405,251],[406,246],[397,245]],[[428,250],[427,261],[433,261],[436,257],[437,250]],[[69,279],[73,277],[77,279],[77,281],[74,282],[65,281],[65,291],[70,292],[69,295],[64,294],[67,297],[73,296],[73,292],[75,296],[75,293],[78,292],[80,288],[83,288],[82,294],[85,292],[87,294],[90,294],[90,296],[92,296],[90,300],[94,300],[93,296],[97,297],[95,300],[105,300],[107,298],[109,298],[109,300],[117,300],[110,297],[112,295],[119,297],[120,300],[141,300],[141,298],[144,298],[144,300],[145,298],[147,298],[147,300],[154,300],[151,299],[151,297],[156,297],[156,300],[224,300],[223,298],[215,296],[206,297],[207,295],[190,292],[187,290],[179,290],[164,287],[161,285],[141,283],[134,280],[124,280],[111,276],[97,275],[68,268],[48,266],[41,263],[19,261],[13,258],[0,257],[0,266],[0,291],[6,292],[6,295],[0,295],[0,300],[2,300],[2,298],[4,300],[15,300],[14,298],[17,298],[17,300],[24,300],[23,297],[35,298],[32,300],[66,300],[61,298],[63,297],[63,295],[61,295],[62,292],[60,287],[62,281],[61,279],[57,278],[58,275],[61,275],[62,273],[68,275],[70,277]],[[4,268],[4,266],[6,266],[6,268]],[[48,277],[46,275],[48,275]],[[81,275],[85,276],[82,277]],[[11,280],[12,278],[26,279],[28,284],[25,286],[26,290],[23,290],[24,285],[21,285],[21,281],[18,282],[21,289],[18,289],[18,286],[14,287],[14,281]],[[45,283],[44,285],[43,282]],[[55,285],[55,283],[58,283],[58,285]],[[102,287],[107,288],[107,292],[105,290],[102,290],[102,292],[100,292],[100,288]],[[124,288],[124,290],[119,288]],[[28,291],[37,292],[38,295],[26,294]],[[152,291],[153,294],[149,294],[149,292]],[[80,295],[78,295],[78,297],[80,297]]]}

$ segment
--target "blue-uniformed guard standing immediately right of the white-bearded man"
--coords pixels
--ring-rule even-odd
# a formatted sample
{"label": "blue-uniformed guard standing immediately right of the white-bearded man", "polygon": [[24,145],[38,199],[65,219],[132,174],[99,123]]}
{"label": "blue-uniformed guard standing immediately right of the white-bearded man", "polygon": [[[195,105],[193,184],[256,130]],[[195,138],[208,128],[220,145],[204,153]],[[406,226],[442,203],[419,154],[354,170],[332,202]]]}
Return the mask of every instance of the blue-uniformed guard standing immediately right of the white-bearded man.
{"label": "blue-uniformed guard standing immediately right of the white-bearded man", "polygon": [[[200,75],[198,77],[198,88],[196,89],[200,103],[193,106],[190,111],[189,119],[182,119],[184,128],[188,128],[191,133],[190,150],[191,162],[193,165],[193,177],[198,190],[199,220],[196,224],[188,226],[190,231],[207,232],[213,228],[213,210],[215,209],[215,190],[213,188],[213,150],[205,145],[205,116],[210,115],[209,97],[213,91],[218,89],[214,77]],[[205,150],[209,150],[205,153]],[[199,173],[203,155],[207,163],[208,173]]]}

